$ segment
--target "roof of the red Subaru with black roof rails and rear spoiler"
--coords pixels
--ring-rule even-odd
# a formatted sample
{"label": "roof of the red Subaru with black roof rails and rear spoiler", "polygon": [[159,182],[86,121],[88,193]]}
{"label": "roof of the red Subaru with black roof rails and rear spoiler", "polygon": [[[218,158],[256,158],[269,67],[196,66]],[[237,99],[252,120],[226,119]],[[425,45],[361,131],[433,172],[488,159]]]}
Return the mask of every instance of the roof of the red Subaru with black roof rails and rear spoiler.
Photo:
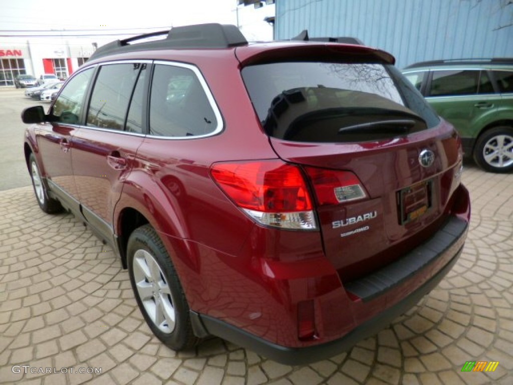
{"label": "roof of the red Subaru with black roof rails and rear spoiler", "polygon": [[[385,51],[360,44],[338,43],[346,41],[344,37],[313,38],[310,41],[307,34],[306,38],[304,35],[302,33],[293,41],[248,43],[241,31],[233,25],[200,24],[174,27],[169,31],[153,32],[108,43],[91,55],[88,64],[101,62],[107,58],[109,60],[169,59],[170,51],[177,59],[185,59],[187,55],[205,54],[233,56],[236,51],[236,57],[243,65],[271,59],[286,59],[290,55],[294,59],[303,57],[305,60],[311,60],[312,57],[316,57],[322,60],[323,57],[327,59],[333,57],[334,53],[351,55],[351,61],[395,63],[395,58]],[[134,44],[137,41],[158,36],[165,37],[157,41]],[[353,38],[351,42],[356,43],[357,40]],[[214,51],[218,52],[214,53]]]}

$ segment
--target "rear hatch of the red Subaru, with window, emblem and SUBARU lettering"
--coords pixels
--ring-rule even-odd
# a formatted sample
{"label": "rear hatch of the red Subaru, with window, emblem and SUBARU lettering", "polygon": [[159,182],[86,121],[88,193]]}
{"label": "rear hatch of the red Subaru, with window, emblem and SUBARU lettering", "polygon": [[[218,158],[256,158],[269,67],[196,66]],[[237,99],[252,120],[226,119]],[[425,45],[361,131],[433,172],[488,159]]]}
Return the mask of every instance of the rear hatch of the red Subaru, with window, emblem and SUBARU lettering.
{"label": "rear hatch of the red Subaru, with window, emblem and SUBARU lettering", "polygon": [[293,60],[291,51],[275,61],[248,60],[242,76],[274,151],[301,166],[325,255],[350,282],[446,222],[461,151],[452,126],[391,60],[380,51],[344,55],[343,47],[326,45],[330,54],[313,61],[305,52]]}

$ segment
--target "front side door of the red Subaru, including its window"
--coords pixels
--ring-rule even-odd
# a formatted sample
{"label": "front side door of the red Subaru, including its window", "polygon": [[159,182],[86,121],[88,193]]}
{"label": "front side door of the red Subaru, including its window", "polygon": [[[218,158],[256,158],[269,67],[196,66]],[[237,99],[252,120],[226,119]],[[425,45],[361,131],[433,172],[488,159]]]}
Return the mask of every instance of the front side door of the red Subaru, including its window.
{"label": "front side door of the red Subaru, including its window", "polygon": [[71,138],[80,130],[85,95],[94,69],[73,76],[50,109],[52,122],[40,125],[37,145],[49,187],[70,209],[78,210],[78,194],[71,165]]}

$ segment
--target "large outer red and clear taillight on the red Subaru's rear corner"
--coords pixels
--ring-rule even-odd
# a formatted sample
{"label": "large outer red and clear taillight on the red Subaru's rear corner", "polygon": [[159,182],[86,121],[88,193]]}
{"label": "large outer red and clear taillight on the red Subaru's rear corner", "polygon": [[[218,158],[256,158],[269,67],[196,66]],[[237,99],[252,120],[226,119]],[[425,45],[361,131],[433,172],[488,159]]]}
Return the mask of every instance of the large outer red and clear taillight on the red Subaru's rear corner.
{"label": "large outer red and clear taillight on the red Subaru's rear corner", "polygon": [[312,201],[301,170],[280,160],[217,163],[212,178],[262,224],[314,229]]}

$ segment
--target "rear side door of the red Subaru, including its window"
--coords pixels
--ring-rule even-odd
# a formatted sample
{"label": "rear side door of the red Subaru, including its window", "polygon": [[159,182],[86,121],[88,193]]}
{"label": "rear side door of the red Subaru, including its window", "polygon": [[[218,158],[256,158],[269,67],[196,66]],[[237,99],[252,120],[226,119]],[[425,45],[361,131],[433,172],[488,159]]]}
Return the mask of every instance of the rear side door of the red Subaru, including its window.
{"label": "rear side door of the red Subaru, including its window", "polygon": [[146,63],[117,62],[97,72],[86,125],[73,136],[73,176],[82,212],[112,240],[112,212],[144,138]]}

